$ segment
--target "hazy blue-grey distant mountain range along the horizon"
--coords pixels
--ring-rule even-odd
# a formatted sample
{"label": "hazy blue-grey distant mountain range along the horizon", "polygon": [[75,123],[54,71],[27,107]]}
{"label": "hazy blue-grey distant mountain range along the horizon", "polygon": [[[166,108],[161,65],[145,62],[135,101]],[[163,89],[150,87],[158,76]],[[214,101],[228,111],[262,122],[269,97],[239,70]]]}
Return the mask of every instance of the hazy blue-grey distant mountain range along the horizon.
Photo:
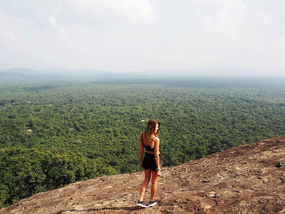
{"label": "hazy blue-grey distant mountain range along the horizon", "polygon": [[44,69],[29,69],[29,68],[11,68],[0,71],[1,73],[17,73],[27,75],[56,75],[56,76],[93,76],[93,77],[137,77],[137,76],[285,76],[284,70],[268,71],[251,68],[238,67],[205,67],[195,68],[189,70],[155,70],[149,69],[144,72],[126,72],[116,73],[110,71],[78,68],[78,69],[58,69],[58,68],[44,68]]}

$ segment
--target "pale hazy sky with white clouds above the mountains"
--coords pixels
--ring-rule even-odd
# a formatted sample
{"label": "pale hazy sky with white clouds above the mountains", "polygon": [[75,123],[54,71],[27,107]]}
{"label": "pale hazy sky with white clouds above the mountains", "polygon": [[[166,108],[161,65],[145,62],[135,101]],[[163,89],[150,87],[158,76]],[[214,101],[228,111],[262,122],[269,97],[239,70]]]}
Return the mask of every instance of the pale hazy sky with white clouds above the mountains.
{"label": "pale hazy sky with white clouds above the mountains", "polygon": [[0,69],[285,70],[284,0],[0,0]]}

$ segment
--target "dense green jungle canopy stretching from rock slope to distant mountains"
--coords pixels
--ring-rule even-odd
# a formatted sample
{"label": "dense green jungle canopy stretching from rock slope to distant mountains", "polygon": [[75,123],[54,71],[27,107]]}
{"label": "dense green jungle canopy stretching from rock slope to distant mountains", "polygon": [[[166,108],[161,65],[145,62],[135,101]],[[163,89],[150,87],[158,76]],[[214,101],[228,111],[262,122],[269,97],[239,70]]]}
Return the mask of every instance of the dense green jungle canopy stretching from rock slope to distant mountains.
{"label": "dense green jungle canopy stretching from rock slope to distant mountains", "polygon": [[17,79],[0,85],[0,207],[102,175],[137,172],[138,136],[161,122],[163,166],[285,135],[283,78]]}

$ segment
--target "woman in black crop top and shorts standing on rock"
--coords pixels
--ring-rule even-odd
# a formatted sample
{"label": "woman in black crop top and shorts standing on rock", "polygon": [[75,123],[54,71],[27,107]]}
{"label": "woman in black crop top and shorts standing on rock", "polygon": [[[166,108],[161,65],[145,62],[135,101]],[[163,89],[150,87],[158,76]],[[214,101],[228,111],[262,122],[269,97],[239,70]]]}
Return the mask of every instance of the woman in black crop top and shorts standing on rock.
{"label": "woman in black crop top and shorts standing on rock", "polygon": [[[161,156],[159,152],[159,138],[158,132],[160,128],[160,122],[157,120],[149,120],[147,128],[144,133],[140,134],[140,166],[143,167],[145,172],[145,180],[140,188],[140,199],[138,200],[137,206],[140,207],[152,207],[156,205],[154,196],[157,189],[157,181],[161,175]],[[143,147],[145,147],[145,157],[143,159]],[[152,179],[151,197],[149,205],[146,205],[143,201],[145,190],[147,185]]]}

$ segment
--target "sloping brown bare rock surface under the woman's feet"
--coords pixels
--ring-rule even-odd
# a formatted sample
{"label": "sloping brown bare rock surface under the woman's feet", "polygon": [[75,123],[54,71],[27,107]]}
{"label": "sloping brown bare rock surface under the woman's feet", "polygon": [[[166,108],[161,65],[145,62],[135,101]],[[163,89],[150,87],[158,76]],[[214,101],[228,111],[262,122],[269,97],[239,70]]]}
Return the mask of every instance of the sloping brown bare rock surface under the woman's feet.
{"label": "sloping brown bare rock surface under the woman's feet", "polygon": [[[17,213],[285,213],[285,137],[242,145],[175,167],[164,167],[158,204],[141,209],[143,172],[73,183],[23,199]],[[145,202],[150,198],[150,185]]]}

